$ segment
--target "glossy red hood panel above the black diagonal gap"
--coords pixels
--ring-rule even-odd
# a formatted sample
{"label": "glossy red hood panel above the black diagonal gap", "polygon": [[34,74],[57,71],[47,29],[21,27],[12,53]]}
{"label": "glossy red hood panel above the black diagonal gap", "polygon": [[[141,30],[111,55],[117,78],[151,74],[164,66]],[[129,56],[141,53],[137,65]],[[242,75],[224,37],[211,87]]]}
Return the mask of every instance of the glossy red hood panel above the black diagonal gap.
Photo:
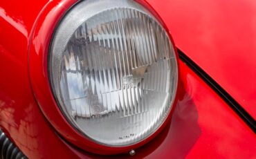
{"label": "glossy red hood panel above the black diagonal gap", "polygon": [[176,46],[256,118],[256,1],[148,3],[165,21]]}

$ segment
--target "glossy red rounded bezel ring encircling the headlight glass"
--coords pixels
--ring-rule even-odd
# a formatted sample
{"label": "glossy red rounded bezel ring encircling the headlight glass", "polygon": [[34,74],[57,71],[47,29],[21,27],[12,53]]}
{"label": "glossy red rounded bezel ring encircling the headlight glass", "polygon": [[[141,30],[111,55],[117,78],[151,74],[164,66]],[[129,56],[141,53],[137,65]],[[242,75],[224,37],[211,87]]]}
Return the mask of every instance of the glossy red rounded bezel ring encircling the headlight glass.
{"label": "glossy red rounded bezel ring encircling the headlight glass", "polygon": [[[138,3],[142,4],[147,10],[149,10],[154,17],[158,19],[161,25],[167,30],[167,27],[163,24],[161,19],[156,15],[156,12],[149,8],[147,3],[144,1],[137,1]],[[35,33],[33,34],[31,48],[30,48],[30,59],[29,59],[29,69],[30,69],[30,81],[33,87],[33,91],[35,92],[35,97],[37,102],[39,103],[40,108],[42,109],[44,115],[46,116],[47,120],[51,122],[53,128],[64,137],[65,140],[71,142],[72,144],[77,145],[86,151],[91,151],[93,153],[100,153],[100,154],[114,154],[114,153],[121,153],[126,152],[131,149],[136,149],[141,145],[145,144],[152,138],[158,134],[165,124],[170,120],[171,115],[170,113],[167,115],[167,119],[161,127],[154,132],[154,134],[150,135],[148,138],[145,138],[143,141],[138,142],[136,144],[132,144],[126,147],[109,147],[106,145],[98,144],[93,142],[88,138],[84,138],[84,135],[77,132],[74,127],[71,126],[69,122],[66,121],[64,114],[60,110],[59,106],[57,106],[57,102],[52,92],[51,84],[49,82],[48,77],[48,53],[49,48],[51,48],[51,42],[53,37],[55,36],[55,29],[60,24],[61,19],[66,15],[68,8],[71,8],[75,1],[68,1],[62,4],[55,3],[55,6],[50,6],[50,8],[46,8],[45,14],[42,14],[41,21],[39,21],[38,25],[35,26]],[[80,2],[78,2],[80,3]],[[75,4],[76,5],[76,4]],[[58,7],[56,7],[58,6]],[[52,12],[51,12],[52,11]],[[53,13],[54,12],[54,13]],[[44,26],[43,28],[39,26]],[[172,37],[170,36],[170,32],[167,30],[167,34],[174,44]],[[175,52],[176,52],[176,48]],[[177,59],[176,53],[176,59]],[[177,64],[179,67],[179,65]],[[179,69],[178,69],[179,75]],[[179,81],[179,77],[178,77]],[[178,88],[177,88],[178,89]],[[173,105],[175,105],[175,102]],[[173,109],[172,109],[173,110]]]}

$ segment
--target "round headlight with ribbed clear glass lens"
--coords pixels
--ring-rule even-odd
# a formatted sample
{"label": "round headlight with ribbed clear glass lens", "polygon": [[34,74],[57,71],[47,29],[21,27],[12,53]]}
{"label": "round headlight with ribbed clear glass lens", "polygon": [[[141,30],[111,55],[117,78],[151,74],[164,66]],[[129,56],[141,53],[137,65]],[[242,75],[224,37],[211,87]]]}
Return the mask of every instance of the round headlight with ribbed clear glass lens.
{"label": "round headlight with ribbed clear glass lens", "polygon": [[108,146],[152,135],[176,95],[178,68],[170,37],[134,1],[78,3],[56,30],[48,69],[68,122]]}

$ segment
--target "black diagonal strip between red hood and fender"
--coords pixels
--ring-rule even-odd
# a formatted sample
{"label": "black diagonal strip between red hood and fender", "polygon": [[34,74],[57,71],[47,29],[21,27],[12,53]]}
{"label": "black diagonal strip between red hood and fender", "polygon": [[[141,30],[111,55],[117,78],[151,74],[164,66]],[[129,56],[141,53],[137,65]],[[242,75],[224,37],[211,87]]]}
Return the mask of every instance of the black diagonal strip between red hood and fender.
{"label": "black diagonal strip between red hood and fender", "polygon": [[208,84],[230,107],[239,117],[246,122],[248,127],[253,130],[254,133],[256,133],[256,122],[255,119],[248,114],[244,108],[234,100],[217,82],[212,79],[205,71],[203,71],[202,68],[200,68],[196,63],[194,63],[185,53],[183,53],[181,50],[178,50],[179,58],[187,65],[189,66],[192,71],[194,71],[203,81]]}

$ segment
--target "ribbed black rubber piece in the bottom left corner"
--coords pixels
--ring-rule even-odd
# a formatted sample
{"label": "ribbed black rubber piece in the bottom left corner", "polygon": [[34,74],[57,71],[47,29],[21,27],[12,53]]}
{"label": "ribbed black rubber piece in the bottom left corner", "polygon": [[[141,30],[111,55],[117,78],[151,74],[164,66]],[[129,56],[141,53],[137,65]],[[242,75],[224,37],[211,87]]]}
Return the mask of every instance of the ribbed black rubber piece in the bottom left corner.
{"label": "ribbed black rubber piece in the bottom left corner", "polygon": [[6,134],[0,129],[0,158],[19,159],[27,158],[24,154],[7,138]]}

